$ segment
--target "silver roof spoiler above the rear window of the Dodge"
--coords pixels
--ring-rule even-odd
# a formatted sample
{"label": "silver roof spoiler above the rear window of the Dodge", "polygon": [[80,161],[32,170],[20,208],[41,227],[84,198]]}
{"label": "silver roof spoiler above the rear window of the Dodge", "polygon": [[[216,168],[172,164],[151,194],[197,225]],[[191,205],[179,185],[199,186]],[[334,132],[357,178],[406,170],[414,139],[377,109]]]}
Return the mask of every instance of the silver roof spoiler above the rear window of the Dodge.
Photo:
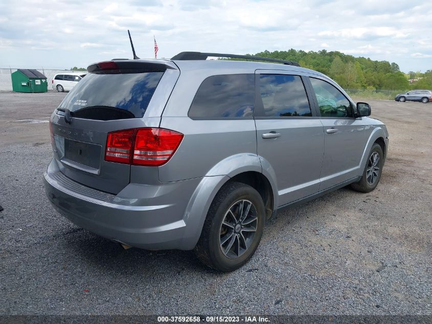
{"label": "silver roof spoiler above the rear window of the Dodge", "polygon": [[176,69],[171,61],[147,60],[111,60],[93,63],[87,67],[89,73],[112,71],[112,73],[139,73],[139,72],[165,72],[167,69]]}

